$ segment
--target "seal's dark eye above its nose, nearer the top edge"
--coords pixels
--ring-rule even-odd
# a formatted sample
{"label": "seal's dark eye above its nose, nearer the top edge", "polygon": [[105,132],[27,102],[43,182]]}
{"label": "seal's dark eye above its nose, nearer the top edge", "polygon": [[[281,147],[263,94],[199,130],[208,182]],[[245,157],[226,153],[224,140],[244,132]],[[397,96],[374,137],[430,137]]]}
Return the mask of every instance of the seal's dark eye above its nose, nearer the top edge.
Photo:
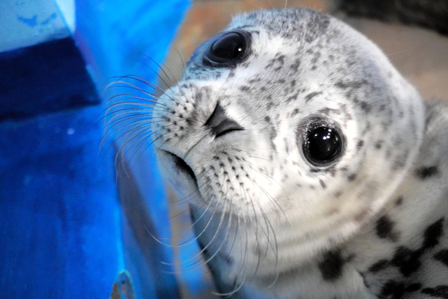
{"label": "seal's dark eye above its nose, nearer the top edge", "polygon": [[248,52],[247,32],[228,32],[219,36],[204,55],[204,64],[212,67],[235,67]]}

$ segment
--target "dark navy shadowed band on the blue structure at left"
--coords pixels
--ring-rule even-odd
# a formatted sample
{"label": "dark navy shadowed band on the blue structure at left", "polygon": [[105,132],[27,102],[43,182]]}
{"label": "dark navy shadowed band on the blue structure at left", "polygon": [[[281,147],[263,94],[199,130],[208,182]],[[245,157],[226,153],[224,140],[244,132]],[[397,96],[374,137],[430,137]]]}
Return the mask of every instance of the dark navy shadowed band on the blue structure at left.
{"label": "dark navy shadowed band on the blue structure at left", "polygon": [[0,120],[97,105],[71,37],[0,53]]}

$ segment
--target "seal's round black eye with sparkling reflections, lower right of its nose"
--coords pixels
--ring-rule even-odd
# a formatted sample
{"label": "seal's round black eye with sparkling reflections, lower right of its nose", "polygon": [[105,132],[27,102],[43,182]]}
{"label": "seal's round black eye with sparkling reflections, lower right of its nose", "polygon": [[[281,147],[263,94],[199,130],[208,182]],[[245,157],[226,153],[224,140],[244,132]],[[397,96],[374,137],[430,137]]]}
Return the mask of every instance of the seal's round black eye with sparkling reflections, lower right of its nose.
{"label": "seal's round black eye with sparkling reflections, lower right of its nose", "polygon": [[305,158],[314,165],[333,162],[342,153],[342,137],[335,127],[310,127],[304,140]]}

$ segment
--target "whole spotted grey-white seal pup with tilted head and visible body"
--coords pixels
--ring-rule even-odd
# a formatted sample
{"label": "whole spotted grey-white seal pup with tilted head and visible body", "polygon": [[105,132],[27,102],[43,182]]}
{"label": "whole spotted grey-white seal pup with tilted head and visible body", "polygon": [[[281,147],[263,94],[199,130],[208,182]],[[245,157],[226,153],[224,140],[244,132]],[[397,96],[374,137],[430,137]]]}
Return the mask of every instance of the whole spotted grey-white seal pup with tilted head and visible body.
{"label": "whole spotted grey-white seal pup with tilted head and visible body", "polygon": [[448,298],[448,110],[309,9],[238,15],[153,109],[163,176],[234,298]]}

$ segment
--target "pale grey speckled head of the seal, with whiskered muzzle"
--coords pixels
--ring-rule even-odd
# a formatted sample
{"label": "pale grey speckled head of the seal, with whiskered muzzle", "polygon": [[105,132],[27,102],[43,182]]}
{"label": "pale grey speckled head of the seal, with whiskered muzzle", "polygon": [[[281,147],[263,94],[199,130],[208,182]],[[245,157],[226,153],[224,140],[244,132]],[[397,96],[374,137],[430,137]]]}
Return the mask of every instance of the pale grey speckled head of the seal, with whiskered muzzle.
{"label": "pale grey speckled head of the seal, with whiskered muzzle", "polygon": [[152,128],[162,174],[242,276],[333,248],[395,200],[422,115],[376,46],[296,9],[240,15],[200,46]]}

